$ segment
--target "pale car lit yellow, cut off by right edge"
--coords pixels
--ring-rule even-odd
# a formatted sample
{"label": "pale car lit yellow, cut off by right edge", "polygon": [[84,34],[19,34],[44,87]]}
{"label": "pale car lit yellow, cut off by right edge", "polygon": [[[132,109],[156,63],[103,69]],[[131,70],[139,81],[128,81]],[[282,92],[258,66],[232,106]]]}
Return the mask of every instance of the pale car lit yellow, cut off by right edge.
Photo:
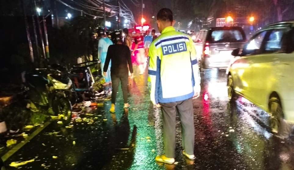
{"label": "pale car lit yellow, cut off by right edge", "polygon": [[[241,95],[269,114],[269,130],[294,127],[294,20],[256,32],[227,69],[228,97]],[[290,125],[290,126],[289,126]],[[283,133],[284,134],[284,133]]]}

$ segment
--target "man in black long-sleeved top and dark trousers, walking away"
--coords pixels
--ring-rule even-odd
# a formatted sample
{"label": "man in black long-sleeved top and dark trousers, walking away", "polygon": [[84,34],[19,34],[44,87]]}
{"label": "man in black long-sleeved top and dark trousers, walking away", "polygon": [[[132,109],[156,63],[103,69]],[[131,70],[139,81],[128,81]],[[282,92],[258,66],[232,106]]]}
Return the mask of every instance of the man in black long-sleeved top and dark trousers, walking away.
{"label": "man in black long-sleeved top and dark trousers, walking away", "polygon": [[[112,81],[112,94],[111,94],[111,108],[110,112],[115,112],[116,93],[118,91],[119,82],[122,86],[122,94],[124,98],[124,108],[129,108],[128,103],[128,80],[129,69],[131,77],[133,77],[133,67],[131,61],[130,49],[128,46],[122,44],[122,39],[118,38],[116,44],[110,45],[107,50],[103,74],[106,75],[108,64],[111,60],[110,76]],[[129,65],[129,68],[128,68]]]}

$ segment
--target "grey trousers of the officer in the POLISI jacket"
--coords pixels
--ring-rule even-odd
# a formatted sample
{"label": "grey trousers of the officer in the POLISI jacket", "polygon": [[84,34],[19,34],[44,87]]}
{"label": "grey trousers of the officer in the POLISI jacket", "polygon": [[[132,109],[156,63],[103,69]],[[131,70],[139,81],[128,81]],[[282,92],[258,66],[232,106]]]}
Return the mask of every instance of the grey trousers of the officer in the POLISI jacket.
{"label": "grey trousers of the officer in the POLISI jacket", "polygon": [[183,101],[159,103],[163,113],[163,143],[165,156],[175,158],[176,110],[182,125],[182,146],[189,155],[194,154],[194,113],[192,98]]}

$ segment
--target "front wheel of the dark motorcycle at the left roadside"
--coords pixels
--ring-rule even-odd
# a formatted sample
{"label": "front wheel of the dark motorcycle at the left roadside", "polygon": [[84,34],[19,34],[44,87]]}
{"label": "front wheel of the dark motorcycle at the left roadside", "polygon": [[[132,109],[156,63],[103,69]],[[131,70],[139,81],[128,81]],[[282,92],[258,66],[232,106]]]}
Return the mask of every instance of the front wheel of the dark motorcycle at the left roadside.
{"label": "front wheel of the dark motorcycle at the left roadside", "polygon": [[71,122],[72,106],[71,102],[66,98],[55,98],[52,102],[52,109],[55,116],[58,116],[64,124]]}

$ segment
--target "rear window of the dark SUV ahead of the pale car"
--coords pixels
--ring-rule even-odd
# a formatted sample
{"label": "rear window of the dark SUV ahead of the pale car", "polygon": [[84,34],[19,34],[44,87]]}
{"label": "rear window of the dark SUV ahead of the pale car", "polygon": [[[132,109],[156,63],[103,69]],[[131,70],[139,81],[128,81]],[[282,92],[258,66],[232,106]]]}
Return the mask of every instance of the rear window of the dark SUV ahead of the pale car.
{"label": "rear window of the dark SUV ahead of the pale car", "polygon": [[223,43],[223,42],[244,42],[245,37],[242,36],[241,30],[213,30],[211,32],[210,43]]}

